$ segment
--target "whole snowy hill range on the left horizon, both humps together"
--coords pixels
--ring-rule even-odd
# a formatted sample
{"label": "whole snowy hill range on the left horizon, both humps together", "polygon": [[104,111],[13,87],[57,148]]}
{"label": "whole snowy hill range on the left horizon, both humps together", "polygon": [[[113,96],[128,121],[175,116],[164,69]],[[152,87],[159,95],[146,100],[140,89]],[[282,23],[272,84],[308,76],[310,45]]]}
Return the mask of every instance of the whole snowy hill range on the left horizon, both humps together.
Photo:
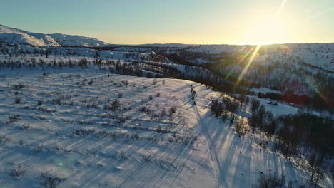
{"label": "whole snowy hill range on the left horizon, both humps together", "polygon": [[106,43],[96,38],[70,36],[60,33],[44,34],[10,28],[0,25],[0,41],[6,43],[29,44],[31,46],[105,46]]}

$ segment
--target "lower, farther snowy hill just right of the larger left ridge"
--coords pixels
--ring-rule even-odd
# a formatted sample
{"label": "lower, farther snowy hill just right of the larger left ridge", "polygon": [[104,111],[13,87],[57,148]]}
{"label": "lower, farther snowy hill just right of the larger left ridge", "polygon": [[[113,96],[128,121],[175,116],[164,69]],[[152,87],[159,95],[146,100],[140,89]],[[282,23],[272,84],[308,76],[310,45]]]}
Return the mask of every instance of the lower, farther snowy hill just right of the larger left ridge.
{"label": "lower, farther snowy hill just right of the larger left ridge", "polygon": [[64,35],[60,33],[56,34],[49,34],[54,40],[56,40],[61,46],[105,46],[106,43],[103,41],[99,41],[96,38],[90,38],[85,36],[71,36],[71,35]]}

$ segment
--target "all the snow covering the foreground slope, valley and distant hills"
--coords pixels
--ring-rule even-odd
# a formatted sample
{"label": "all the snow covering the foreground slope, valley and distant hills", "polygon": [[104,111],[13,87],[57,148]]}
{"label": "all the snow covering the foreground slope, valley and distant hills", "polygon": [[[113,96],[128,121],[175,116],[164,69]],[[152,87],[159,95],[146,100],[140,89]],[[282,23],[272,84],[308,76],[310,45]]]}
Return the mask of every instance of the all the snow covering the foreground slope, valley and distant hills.
{"label": "all the snow covering the foreground slope, valley and distant hills", "polygon": [[[83,47],[105,45],[96,38],[44,35],[6,26],[0,26],[0,41],[19,44],[18,48],[30,52],[39,48],[57,51],[49,54],[49,58],[34,57],[34,54],[0,55],[0,60],[6,58],[21,63],[33,58],[46,62],[82,58],[94,61],[96,50]],[[253,64],[268,66],[279,61],[286,66],[295,60],[299,63],[296,63],[297,68],[303,66],[300,62],[305,62],[313,73],[334,71],[333,45],[263,46],[272,52],[255,56]],[[10,44],[4,46],[9,53],[15,51]],[[252,46],[116,47],[114,51],[98,51],[98,58],[126,63],[150,57],[155,54],[152,48],[168,48],[168,53],[185,50],[214,55],[244,52]],[[196,72],[195,67],[168,60],[151,59],[145,63],[168,65],[192,75],[201,73]],[[193,63],[208,61],[197,58]],[[310,174],[305,170],[307,162],[303,157],[290,161],[272,150],[264,150],[260,147],[259,132],[255,135],[248,132],[240,137],[229,120],[211,115],[208,108],[211,100],[220,98],[221,93],[188,80],[165,78],[153,84],[153,78],[108,76],[108,72],[98,67],[88,67],[0,69],[0,187],[39,187],[43,173],[64,179],[58,187],[251,187],[260,172],[284,172],[286,182],[292,181],[295,187],[308,184]],[[243,70],[233,65],[226,68],[236,73]],[[279,82],[277,78],[283,71],[275,69],[272,78]],[[298,77],[297,71],[293,71],[292,77]],[[248,74],[251,73],[257,75],[256,68]],[[25,87],[14,89],[18,84]],[[198,95],[196,105],[193,105],[190,85]],[[251,90],[280,93],[269,88]],[[16,97],[21,98],[21,103],[14,103]],[[121,107],[111,110],[116,100]],[[283,102],[275,101],[278,105],[270,105],[269,99],[258,100],[275,116],[298,113],[298,108]],[[172,108],[176,113],[170,115]],[[17,120],[16,115],[19,115]],[[250,116],[249,105],[236,113],[240,119]],[[22,177],[10,177],[9,172],[17,164],[21,164],[26,173]],[[330,181],[327,177],[320,184],[331,187]]]}

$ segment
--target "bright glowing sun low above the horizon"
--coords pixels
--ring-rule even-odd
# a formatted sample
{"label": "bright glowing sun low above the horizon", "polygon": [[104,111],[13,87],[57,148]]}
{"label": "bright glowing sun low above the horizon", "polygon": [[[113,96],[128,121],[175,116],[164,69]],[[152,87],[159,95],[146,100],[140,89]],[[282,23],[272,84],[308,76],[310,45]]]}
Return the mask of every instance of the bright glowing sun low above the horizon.
{"label": "bright glowing sun low above the horizon", "polygon": [[288,31],[285,22],[276,16],[263,16],[263,18],[253,21],[246,41],[257,45],[287,43]]}

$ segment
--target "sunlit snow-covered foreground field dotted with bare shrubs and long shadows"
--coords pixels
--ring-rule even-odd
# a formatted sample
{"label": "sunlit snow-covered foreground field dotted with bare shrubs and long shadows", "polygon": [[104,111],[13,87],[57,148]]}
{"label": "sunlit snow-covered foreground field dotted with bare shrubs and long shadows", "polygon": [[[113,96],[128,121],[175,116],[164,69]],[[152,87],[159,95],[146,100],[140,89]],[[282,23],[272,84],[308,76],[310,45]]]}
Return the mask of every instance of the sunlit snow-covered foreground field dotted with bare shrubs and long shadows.
{"label": "sunlit snow-covered foreground field dotted with bare shrubs and long shadows", "polygon": [[[251,187],[260,172],[308,183],[298,164],[211,115],[187,80],[97,70],[0,72],[0,187]],[[193,105],[190,86],[198,94]],[[19,103],[17,103],[19,102]],[[278,104],[275,115],[297,113]],[[241,115],[241,116],[239,116]],[[249,117],[249,107],[238,117]],[[9,173],[21,164],[25,173]],[[323,181],[330,187],[330,180]]]}

